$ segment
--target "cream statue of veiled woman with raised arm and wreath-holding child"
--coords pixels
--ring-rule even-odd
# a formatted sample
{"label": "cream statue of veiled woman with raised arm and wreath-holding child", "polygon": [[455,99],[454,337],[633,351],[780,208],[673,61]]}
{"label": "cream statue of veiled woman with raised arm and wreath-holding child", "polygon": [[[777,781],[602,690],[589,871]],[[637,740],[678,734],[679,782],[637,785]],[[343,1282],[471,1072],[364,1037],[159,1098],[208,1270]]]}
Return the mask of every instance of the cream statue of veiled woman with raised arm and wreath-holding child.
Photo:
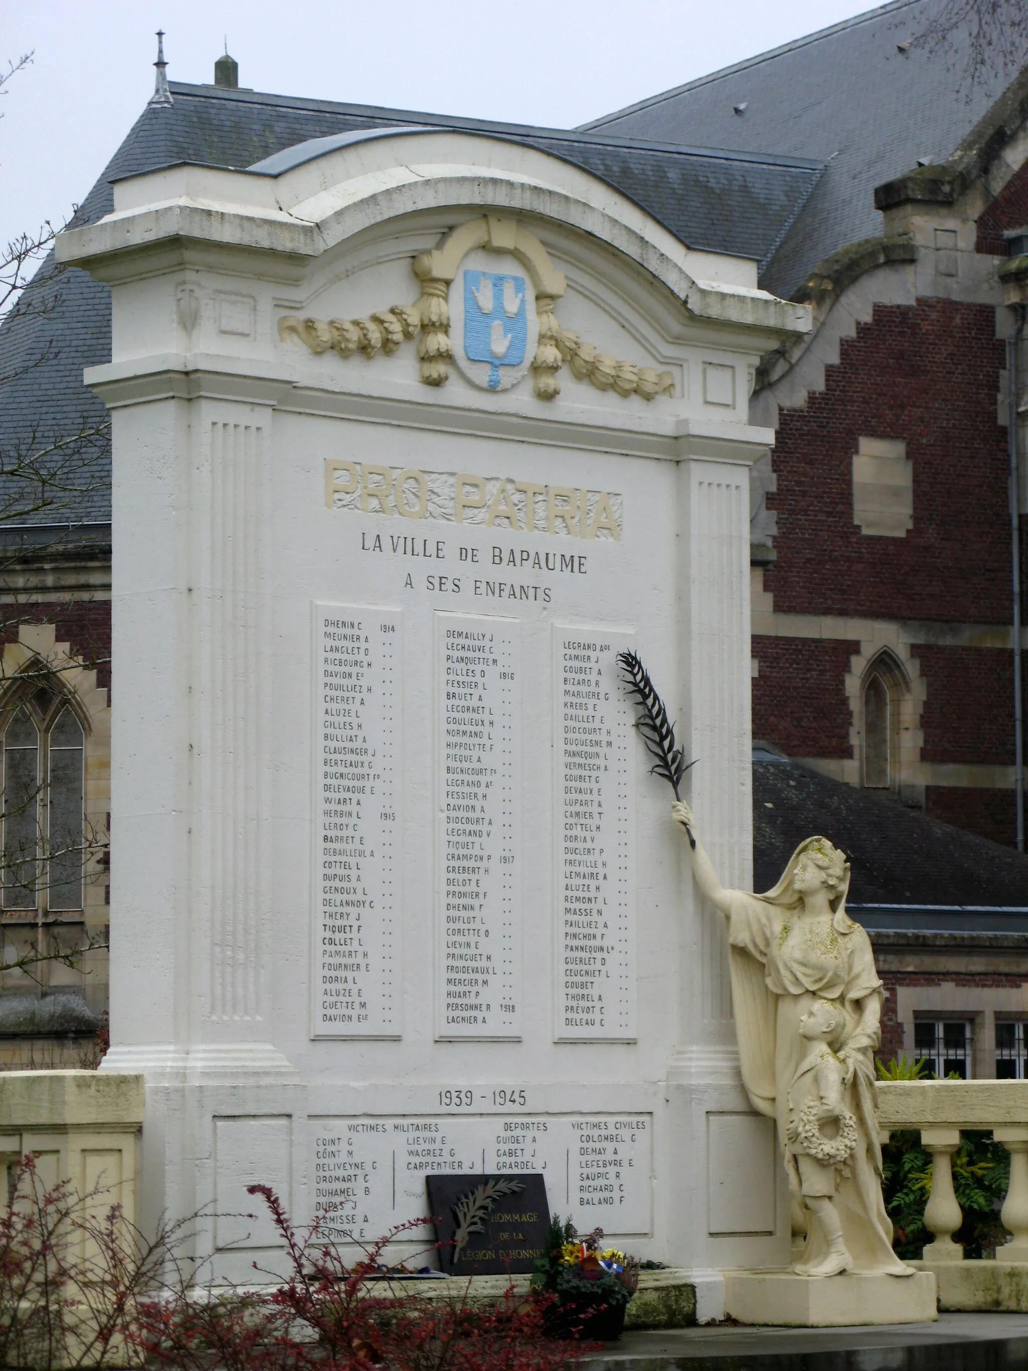
{"label": "cream statue of veiled woman with raised arm and wreath-holding child", "polygon": [[[672,814],[695,834],[688,805],[676,802]],[[870,939],[846,913],[850,864],[827,838],[807,838],[777,886],[751,895],[721,886],[699,842],[685,850],[700,891],[728,920],[743,1084],[777,1121],[806,1220],[792,1270],[913,1275],[892,1250],[881,1200],[873,1053],[884,994]]]}

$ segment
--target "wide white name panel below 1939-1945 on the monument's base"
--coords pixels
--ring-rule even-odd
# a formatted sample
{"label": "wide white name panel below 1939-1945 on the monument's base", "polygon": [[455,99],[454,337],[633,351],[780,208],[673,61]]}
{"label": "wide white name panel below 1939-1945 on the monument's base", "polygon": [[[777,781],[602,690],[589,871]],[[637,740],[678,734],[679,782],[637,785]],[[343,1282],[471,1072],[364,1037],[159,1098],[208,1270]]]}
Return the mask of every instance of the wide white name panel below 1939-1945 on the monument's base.
{"label": "wide white name panel below 1939-1945 on the monument's base", "polygon": [[[652,1227],[652,1115],[311,1119],[315,1206],[328,1237],[366,1242],[428,1219],[430,1172],[540,1172],[551,1213],[580,1233]],[[432,1242],[428,1223],[404,1234]]]}

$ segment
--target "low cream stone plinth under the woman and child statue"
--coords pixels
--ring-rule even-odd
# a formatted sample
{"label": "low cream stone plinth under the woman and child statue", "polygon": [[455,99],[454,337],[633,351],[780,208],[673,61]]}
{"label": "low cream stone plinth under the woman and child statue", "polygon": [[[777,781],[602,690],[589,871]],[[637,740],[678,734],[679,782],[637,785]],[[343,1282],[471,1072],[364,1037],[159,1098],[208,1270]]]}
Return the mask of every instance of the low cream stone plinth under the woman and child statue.
{"label": "low cream stone plinth under the woman and child statue", "polygon": [[935,1276],[931,1271],[822,1278],[791,1271],[725,1271],[725,1313],[740,1323],[791,1328],[931,1323],[936,1318]]}

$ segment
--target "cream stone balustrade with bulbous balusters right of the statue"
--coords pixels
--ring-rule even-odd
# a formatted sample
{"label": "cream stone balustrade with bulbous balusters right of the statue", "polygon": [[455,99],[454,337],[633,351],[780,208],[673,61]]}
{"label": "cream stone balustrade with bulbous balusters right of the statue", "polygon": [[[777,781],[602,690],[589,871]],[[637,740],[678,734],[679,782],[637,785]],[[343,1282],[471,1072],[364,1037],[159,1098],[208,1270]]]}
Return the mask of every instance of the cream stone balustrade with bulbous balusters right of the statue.
{"label": "cream stone balustrade with bulbous balusters right of the statue", "polygon": [[[925,1208],[924,1265],[936,1274],[942,1309],[1028,1311],[1028,1080],[879,1082],[883,1142],[901,1130],[917,1130],[932,1156],[932,1186]],[[991,1132],[1010,1153],[1010,1185],[1001,1211],[1010,1242],[995,1261],[965,1261],[954,1242],[964,1215],[953,1189],[953,1153],[961,1132]]]}

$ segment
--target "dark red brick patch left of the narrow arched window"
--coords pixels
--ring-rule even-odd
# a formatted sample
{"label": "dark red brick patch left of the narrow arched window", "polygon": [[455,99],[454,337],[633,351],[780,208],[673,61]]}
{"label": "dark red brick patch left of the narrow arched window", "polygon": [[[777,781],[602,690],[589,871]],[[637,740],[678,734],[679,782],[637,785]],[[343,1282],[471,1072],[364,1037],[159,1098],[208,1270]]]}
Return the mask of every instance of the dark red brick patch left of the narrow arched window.
{"label": "dark red brick patch left of the narrow arched window", "polygon": [[846,698],[859,643],[809,638],[752,639],[752,733],[790,757],[853,757]]}

